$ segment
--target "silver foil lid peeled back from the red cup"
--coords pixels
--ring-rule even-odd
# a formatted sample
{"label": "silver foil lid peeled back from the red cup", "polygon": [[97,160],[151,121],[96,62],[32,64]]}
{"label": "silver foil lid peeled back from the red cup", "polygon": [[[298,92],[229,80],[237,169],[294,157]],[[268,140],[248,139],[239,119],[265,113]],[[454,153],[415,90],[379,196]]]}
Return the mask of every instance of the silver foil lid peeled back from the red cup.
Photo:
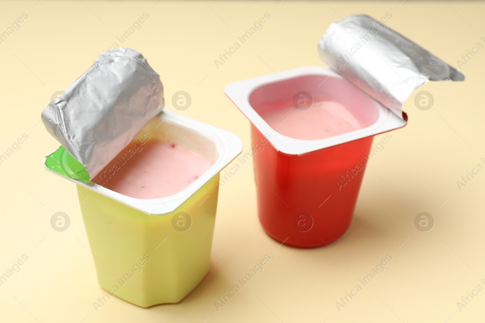
{"label": "silver foil lid peeled back from the red cup", "polygon": [[428,80],[465,80],[460,71],[367,15],[331,24],[318,49],[330,68],[402,119],[404,100]]}

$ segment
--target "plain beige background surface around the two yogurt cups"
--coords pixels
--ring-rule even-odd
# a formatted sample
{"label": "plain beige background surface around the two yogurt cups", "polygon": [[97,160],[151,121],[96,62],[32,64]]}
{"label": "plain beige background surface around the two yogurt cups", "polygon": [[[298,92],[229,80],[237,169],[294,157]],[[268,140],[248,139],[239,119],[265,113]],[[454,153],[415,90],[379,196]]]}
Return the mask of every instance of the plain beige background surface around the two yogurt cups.
{"label": "plain beige background surface around the two yogurt cups", "polygon": [[[456,181],[476,164],[485,165],[480,161],[485,157],[485,49],[463,66],[465,82],[421,88],[435,98],[430,110],[414,105],[420,90],[411,94],[404,103],[409,124],[392,132],[384,151],[372,158],[352,225],[330,247],[278,248],[259,225],[252,165],[243,166],[220,190],[212,248],[217,257],[211,258],[210,272],[174,305],[144,309],[112,298],[94,309],[103,291],[85,247],[76,187],[43,169],[43,156],[58,143],[38,122],[52,93],[65,90],[146,12],[150,17],[143,28],[123,46],[142,52],[159,72],[166,108],[175,110],[173,93],[189,92],[192,106],[180,113],[235,132],[246,152],[249,123],[224,95],[227,83],[324,65],[316,46],[325,29],[339,16],[359,13],[378,19],[391,13],[388,27],[457,67],[468,49],[477,42],[485,45],[480,40],[485,38],[484,3],[36,1],[0,3],[0,32],[23,12],[29,15],[0,44],[0,154],[22,134],[29,136],[0,165],[0,275],[23,254],[29,257],[0,286],[1,322],[452,323],[483,318],[485,292],[461,311],[456,302],[478,284],[485,287],[480,281],[485,278],[485,170],[461,191]],[[217,69],[218,55],[265,12],[271,18],[264,28]],[[71,219],[64,232],[49,224],[60,211]],[[436,221],[429,232],[414,226],[422,211]],[[214,302],[265,254],[272,261],[264,271],[217,312]],[[392,261],[385,271],[339,311],[340,296],[387,254]]]}

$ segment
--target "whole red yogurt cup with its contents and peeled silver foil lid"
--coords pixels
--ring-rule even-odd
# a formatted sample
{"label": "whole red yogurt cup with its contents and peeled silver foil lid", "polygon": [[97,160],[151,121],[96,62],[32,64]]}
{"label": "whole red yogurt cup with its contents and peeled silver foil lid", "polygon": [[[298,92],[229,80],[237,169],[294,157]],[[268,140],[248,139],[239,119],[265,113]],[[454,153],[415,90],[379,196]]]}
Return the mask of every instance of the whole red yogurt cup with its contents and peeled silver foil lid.
{"label": "whole red yogurt cup with its contents and peeled silver foil lid", "polygon": [[[350,56],[346,47],[366,31],[373,38]],[[405,98],[429,79],[465,78],[364,15],[332,24],[319,50],[331,69],[307,66],[225,89],[251,122],[253,145],[270,143],[254,156],[261,225],[297,247],[325,246],[348,229],[373,136],[407,124]]]}

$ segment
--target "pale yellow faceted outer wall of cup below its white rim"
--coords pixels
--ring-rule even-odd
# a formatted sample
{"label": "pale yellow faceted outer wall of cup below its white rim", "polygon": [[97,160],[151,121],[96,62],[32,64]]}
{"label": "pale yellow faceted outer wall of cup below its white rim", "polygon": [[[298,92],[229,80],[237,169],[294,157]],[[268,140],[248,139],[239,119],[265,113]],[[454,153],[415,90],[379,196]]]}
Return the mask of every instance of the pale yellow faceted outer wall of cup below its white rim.
{"label": "pale yellow faceted outer wall of cup below its white rim", "polygon": [[[99,285],[110,292],[106,297],[149,307],[177,303],[197,286],[209,271],[218,183],[219,174],[166,215],[147,215],[77,185]],[[181,231],[189,221],[178,215],[180,231],[174,228],[178,212],[190,216],[190,229]]]}

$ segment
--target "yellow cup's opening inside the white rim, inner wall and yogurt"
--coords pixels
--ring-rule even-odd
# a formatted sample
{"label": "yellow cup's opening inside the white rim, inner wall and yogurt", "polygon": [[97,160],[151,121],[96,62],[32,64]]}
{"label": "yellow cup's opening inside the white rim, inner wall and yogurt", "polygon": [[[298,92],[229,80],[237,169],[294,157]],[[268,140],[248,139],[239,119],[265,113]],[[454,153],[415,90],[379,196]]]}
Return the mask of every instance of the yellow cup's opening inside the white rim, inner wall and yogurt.
{"label": "yellow cup's opening inside the white rim, inner wall and yogurt", "polygon": [[168,198],[203,176],[218,158],[210,138],[154,118],[92,182],[130,198]]}

